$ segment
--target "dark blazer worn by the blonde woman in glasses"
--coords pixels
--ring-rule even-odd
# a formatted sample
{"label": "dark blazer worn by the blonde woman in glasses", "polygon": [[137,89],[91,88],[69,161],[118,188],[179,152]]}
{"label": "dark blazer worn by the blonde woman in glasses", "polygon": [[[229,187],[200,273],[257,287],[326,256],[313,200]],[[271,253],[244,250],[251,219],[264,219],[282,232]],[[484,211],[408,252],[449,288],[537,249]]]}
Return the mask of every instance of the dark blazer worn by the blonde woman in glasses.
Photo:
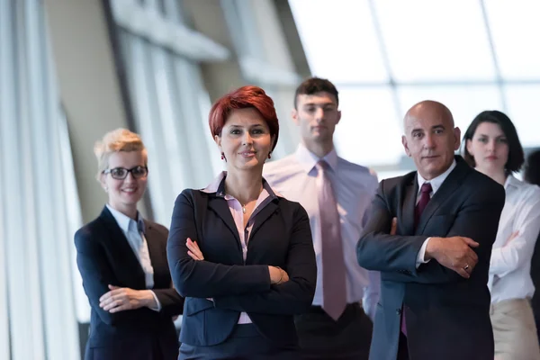
{"label": "dark blazer worn by the blonde woman in glasses", "polygon": [[157,351],[167,360],[178,356],[179,345],[172,317],[182,313],[184,299],[171,288],[166,263],[168,231],[155,222],[144,222],[154,268],[154,288],[151,290],[161,303],[159,312],[140,308],[110,313],[99,307],[99,298],[109,292],[108,284],[146,290],[139,260],[106,206],[97,219],[76,231],[76,263],[92,307],[86,360],[148,360],[154,359],[152,354]]}

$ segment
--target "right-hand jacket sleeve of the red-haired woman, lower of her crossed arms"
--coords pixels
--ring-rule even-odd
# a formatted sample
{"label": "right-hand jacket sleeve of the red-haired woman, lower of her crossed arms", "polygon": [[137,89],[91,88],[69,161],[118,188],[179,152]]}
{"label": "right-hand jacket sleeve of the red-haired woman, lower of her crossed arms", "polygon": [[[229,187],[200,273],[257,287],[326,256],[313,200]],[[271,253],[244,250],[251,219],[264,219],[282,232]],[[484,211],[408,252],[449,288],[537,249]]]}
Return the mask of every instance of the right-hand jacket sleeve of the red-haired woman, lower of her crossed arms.
{"label": "right-hand jacket sleeve of the red-haired woman, lower of her crossed arms", "polygon": [[317,264],[307,212],[298,206],[284,270],[289,281],[272,285],[265,293],[215,297],[216,308],[266,314],[298,314],[313,302],[317,284]]}

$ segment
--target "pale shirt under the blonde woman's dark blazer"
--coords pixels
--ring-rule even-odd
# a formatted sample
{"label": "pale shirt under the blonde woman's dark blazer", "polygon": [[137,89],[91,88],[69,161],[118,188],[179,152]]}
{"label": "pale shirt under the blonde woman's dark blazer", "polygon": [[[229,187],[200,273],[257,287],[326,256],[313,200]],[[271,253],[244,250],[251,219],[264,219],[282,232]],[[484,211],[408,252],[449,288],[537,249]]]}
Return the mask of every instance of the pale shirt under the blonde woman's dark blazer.
{"label": "pale shirt under the blonde woman's dark blazer", "polygon": [[[140,267],[145,276],[145,284],[147,289],[152,289],[154,287],[154,267],[152,267],[152,262],[150,261],[150,255],[148,252],[148,242],[144,237],[144,221],[142,216],[140,216],[139,211],[137,212],[137,221],[131,219],[129,216],[121,213],[112,208],[107,204],[107,209],[111,211],[114,220],[120,227],[121,231],[128,239],[135,257],[139,260]],[[139,223],[139,225],[138,225]],[[139,228],[141,231],[139,231]],[[152,295],[154,295],[154,300],[156,300],[157,308],[150,308],[153,311],[161,310],[161,303],[157,300],[156,293],[150,290]]]}

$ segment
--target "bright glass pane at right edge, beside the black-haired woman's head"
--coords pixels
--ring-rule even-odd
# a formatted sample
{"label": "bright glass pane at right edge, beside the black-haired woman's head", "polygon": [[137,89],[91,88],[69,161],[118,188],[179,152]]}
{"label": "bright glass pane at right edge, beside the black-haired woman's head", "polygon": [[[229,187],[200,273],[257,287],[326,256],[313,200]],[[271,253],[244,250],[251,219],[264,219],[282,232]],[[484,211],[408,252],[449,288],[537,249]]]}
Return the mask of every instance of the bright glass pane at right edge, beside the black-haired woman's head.
{"label": "bright glass pane at right edge, beside the black-haired woman's head", "polygon": [[508,115],[516,125],[521,144],[533,148],[540,146],[540,85],[508,85],[505,95],[509,106]]}

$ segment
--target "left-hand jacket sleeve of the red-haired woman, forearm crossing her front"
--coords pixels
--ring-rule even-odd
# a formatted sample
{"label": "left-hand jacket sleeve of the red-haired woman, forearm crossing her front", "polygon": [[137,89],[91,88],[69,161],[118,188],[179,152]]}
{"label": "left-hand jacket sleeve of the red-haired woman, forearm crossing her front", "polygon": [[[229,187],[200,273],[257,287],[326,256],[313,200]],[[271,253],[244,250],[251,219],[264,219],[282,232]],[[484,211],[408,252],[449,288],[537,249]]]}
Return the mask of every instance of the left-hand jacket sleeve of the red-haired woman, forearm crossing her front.
{"label": "left-hand jacket sleeve of the red-haired woman, forearm crossing her front", "polygon": [[215,298],[268,291],[268,266],[227,266],[193,260],[187,254],[186,239],[197,239],[194,206],[188,192],[185,190],[176,198],[166,245],[168,264],[178,293],[184,297]]}

